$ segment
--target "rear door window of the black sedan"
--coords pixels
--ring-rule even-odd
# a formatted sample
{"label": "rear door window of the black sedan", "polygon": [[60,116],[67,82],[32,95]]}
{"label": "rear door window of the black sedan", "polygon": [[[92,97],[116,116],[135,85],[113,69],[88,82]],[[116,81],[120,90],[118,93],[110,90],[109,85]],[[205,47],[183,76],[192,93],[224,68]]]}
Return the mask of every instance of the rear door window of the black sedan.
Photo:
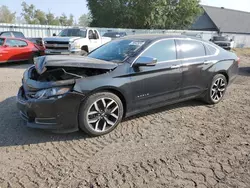
{"label": "rear door window of the black sedan", "polygon": [[203,43],[193,40],[181,40],[180,51],[182,58],[206,56],[205,46]]}

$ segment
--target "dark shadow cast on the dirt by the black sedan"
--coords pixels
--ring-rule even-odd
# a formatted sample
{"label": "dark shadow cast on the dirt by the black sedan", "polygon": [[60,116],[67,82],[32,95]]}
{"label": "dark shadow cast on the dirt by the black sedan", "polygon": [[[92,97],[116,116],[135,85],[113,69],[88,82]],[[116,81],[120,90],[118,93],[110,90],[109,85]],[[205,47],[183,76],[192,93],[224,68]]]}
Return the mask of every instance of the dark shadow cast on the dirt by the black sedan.
{"label": "dark shadow cast on the dirt by the black sedan", "polygon": [[[127,118],[124,121],[130,121],[133,118],[155,114],[174,108],[200,105],[204,105],[204,103],[199,101],[188,101],[139,114],[137,116]],[[89,136],[84,134],[82,131],[68,134],[55,134],[49,131],[26,127],[25,121],[23,121],[19,116],[19,111],[16,107],[16,97],[10,97],[0,102],[0,117],[0,147],[89,138]]]}

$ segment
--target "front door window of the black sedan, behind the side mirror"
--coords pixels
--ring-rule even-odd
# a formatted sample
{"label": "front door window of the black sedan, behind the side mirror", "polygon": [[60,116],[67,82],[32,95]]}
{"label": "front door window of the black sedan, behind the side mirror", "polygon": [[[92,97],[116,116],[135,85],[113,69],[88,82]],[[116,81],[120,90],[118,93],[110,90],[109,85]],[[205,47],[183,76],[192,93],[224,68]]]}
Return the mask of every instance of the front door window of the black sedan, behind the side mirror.
{"label": "front door window of the black sedan, behind the side mirror", "polygon": [[158,62],[176,59],[176,47],[174,40],[157,42],[147,49],[141,56],[156,58]]}

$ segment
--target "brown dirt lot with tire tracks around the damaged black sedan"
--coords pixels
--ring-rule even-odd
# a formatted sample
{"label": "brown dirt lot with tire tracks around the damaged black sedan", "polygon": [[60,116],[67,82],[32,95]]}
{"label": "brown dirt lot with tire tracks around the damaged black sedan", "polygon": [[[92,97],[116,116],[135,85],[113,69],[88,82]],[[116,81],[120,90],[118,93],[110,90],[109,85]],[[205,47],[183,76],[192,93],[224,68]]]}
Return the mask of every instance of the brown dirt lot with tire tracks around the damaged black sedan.
{"label": "brown dirt lot with tire tracks around the damaged black sedan", "polygon": [[0,187],[250,187],[250,56],[216,106],[189,101],[109,135],[26,128],[15,105],[29,65],[0,67]]}

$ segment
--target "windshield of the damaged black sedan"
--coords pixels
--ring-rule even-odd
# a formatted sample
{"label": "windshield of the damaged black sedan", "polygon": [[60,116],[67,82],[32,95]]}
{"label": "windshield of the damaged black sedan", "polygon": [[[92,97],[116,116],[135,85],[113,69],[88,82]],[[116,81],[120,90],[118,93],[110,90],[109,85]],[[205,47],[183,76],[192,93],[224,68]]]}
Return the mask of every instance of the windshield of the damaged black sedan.
{"label": "windshield of the damaged black sedan", "polygon": [[145,41],[142,40],[118,40],[101,46],[91,52],[88,57],[105,61],[123,62],[128,56],[135,53]]}

